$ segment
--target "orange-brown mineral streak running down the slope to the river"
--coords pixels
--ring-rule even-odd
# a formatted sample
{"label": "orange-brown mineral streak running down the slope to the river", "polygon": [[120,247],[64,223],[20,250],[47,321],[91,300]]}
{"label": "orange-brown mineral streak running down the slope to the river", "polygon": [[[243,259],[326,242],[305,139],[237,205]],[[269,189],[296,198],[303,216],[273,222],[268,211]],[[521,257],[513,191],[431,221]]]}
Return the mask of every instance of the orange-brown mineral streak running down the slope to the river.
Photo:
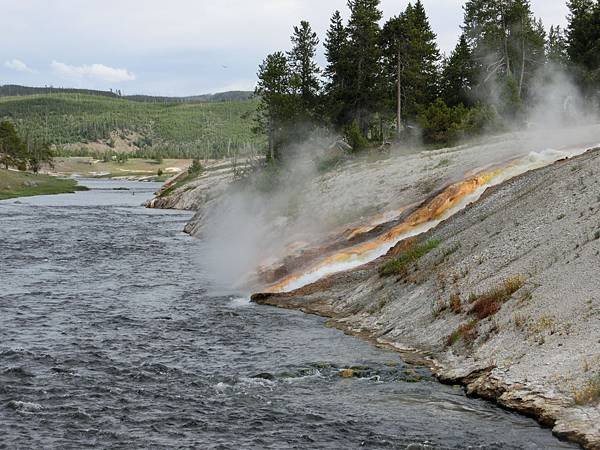
{"label": "orange-brown mineral streak running down the slope to the river", "polygon": [[[436,195],[425,206],[419,208],[414,213],[412,213],[404,222],[390,229],[383,235],[371,241],[356,245],[354,247],[345,249],[341,252],[328,256],[317,265],[309,267],[303,272],[290,275],[282,279],[278,283],[271,285],[265,290],[265,292],[283,292],[287,286],[297,281],[307,273],[318,272],[320,269],[323,269],[325,267],[349,261],[353,257],[360,256],[369,251],[375,250],[385,245],[386,243],[397,241],[399,238],[401,238],[401,236],[408,234],[410,231],[414,230],[420,225],[440,219],[444,215],[444,213],[457,206],[467,195],[472,194],[480,187],[489,184],[490,181],[494,177],[499,175],[501,171],[502,169],[497,169],[494,171],[485,172],[450,185],[440,194]],[[352,230],[349,239],[358,234],[368,232],[374,229],[375,226],[365,226]]]}

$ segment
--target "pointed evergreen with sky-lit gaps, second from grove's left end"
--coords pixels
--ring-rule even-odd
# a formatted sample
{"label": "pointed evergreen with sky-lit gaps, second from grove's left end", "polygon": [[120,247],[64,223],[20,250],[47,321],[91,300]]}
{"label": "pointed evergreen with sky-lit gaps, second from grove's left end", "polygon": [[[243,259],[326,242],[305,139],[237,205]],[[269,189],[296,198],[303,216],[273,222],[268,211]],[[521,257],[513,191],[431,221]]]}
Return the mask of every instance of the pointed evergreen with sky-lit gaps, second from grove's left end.
{"label": "pointed evergreen with sky-lit gaps, second from grove's left end", "polygon": [[306,118],[312,116],[319,95],[319,67],[314,61],[319,45],[319,38],[310,24],[306,21],[300,22],[299,27],[294,27],[291,37],[292,50],[288,52],[288,61],[292,71],[291,83],[296,89],[297,95]]}

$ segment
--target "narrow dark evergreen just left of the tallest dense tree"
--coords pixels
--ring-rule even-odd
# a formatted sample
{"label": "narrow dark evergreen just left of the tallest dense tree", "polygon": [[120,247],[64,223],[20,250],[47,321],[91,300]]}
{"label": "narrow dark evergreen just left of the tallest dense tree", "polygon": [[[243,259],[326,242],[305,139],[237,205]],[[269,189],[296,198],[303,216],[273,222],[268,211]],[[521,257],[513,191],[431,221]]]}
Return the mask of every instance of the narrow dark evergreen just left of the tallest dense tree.
{"label": "narrow dark evergreen just left of the tallest dense tree", "polygon": [[348,119],[345,93],[348,86],[350,64],[348,31],[339,11],[335,11],[331,17],[324,46],[327,58],[324,74],[328,79],[325,85],[326,109],[333,124],[340,127]]}

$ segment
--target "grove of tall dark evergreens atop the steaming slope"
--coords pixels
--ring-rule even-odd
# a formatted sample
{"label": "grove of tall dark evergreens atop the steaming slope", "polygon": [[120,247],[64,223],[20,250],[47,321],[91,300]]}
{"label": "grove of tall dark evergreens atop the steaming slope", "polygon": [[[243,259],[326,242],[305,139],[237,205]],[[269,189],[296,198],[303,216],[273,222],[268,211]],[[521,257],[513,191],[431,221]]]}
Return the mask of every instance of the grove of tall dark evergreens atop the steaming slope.
{"label": "grove of tall dark evergreens atop the steaming slope", "polygon": [[[546,26],[529,0],[467,0],[456,48],[442,56],[418,0],[382,23],[379,0],[348,0],[349,19],[335,11],[323,44],[310,23],[293,29],[287,51],[259,67],[259,128],[272,159],[316,130],[346,136],[355,149],[422,138],[447,144],[484,131],[525,125],[540,90],[563,76],[597,108],[600,2],[568,1],[568,27]],[[561,75],[562,74],[562,75]],[[301,126],[299,126],[301,124]]]}

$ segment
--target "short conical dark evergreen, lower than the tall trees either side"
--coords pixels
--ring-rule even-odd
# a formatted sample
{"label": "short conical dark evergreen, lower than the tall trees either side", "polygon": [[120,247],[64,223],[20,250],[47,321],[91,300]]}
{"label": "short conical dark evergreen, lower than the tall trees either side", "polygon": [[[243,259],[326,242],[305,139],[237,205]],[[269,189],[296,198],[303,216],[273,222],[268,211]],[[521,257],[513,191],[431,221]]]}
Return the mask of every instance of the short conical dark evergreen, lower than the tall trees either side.
{"label": "short conical dark evergreen, lower than the tall trees either side", "polygon": [[444,62],[442,71],[442,98],[448,106],[471,106],[477,71],[467,39],[460,37],[456,48]]}

